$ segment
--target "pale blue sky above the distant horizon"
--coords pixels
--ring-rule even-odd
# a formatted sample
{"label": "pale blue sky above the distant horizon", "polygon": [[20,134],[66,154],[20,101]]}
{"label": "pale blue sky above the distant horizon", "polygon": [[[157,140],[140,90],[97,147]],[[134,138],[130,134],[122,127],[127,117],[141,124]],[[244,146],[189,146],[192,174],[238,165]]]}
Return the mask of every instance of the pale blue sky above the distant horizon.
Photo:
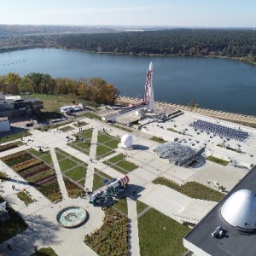
{"label": "pale blue sky above the distant horizon", "polygon": [[256,27],[255,0],[0,0],[0,24]]}

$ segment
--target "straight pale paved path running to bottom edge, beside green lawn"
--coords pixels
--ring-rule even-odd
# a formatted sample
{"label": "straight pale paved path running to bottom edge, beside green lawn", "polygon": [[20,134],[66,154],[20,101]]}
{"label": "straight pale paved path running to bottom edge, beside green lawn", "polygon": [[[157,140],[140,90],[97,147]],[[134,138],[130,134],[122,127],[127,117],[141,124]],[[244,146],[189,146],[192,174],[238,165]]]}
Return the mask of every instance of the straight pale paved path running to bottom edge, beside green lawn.
{"label": "straight pale paved path running to bottom edge, beside green lawn", "polygon": [[137,229],[137,202],[127,197],[128,218],[131,234],[128,236],[128,245],[131,256],[140,255],[140,243]]}

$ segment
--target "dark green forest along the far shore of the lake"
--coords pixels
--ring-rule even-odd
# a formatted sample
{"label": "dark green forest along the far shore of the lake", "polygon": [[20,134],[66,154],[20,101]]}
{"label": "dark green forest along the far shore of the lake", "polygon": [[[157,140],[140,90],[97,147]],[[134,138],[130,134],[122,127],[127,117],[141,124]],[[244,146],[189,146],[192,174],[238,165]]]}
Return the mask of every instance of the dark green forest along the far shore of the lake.
{"label": "dark green forest along the far shore of the lake", "polygon": [[[8,44],[7,44],[8,43]],[[229,57],[256,64],[253,29],[168,29],[15,36],[0,51],[27,48],[78,49],[128,55]]]}

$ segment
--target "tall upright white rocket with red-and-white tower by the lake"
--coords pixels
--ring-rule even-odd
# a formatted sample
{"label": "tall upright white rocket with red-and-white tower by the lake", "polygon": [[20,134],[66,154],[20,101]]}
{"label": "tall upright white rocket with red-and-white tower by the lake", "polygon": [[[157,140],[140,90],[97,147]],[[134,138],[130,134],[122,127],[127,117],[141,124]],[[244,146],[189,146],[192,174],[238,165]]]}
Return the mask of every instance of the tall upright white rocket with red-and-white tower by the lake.
{"label": "tall upright white rocket with red-and-white tower by the lake", "polygon": [[154,112],[153,63],[152,62],[150,62],[148,71],[147,71],[145,95],[144,95],[143,102],[147,105],[149,112]]}

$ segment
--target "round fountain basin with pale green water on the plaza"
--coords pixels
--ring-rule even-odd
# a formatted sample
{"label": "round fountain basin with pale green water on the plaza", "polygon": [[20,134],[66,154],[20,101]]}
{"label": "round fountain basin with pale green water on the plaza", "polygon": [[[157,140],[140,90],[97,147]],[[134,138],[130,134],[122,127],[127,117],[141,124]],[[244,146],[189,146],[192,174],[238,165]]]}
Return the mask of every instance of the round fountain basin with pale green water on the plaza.
{"label": "round fountain basin with pale green water on the plaza", "polygon": [[57,222],[64,228],[74,228],[82,224],[87,212],[80,207],[67,207],[57,214]]}

